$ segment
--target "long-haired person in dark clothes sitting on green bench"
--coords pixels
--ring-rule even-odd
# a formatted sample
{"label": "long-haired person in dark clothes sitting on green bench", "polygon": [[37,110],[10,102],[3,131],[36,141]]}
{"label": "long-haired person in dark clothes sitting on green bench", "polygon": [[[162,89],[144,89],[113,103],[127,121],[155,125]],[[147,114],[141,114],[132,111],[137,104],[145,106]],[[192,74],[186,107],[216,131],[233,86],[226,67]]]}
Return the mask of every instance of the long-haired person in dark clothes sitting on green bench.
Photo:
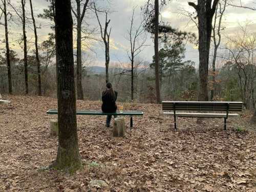
{"label": "long-haired person in dark clothes sitting on green bench", "polygon": [[[117,110],[116,106],[117,92],[114,91],[110,82],[106,83],[106,90],[102,92],[101,110],[104,113],[114,113]],[[114,116],[116,117],[116,116]],[[110,127],[112,115],[106,116],[106,127]]]}

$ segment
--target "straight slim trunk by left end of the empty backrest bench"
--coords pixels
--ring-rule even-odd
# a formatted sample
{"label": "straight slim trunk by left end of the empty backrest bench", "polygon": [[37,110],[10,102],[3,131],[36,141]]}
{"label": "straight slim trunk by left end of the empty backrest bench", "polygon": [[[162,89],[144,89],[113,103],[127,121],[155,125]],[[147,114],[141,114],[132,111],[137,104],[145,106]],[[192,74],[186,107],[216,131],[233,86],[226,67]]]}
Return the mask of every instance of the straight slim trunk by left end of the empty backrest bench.
{"label": "straight slim trunk by left end of the empty backrest bench", "polygon": [[158,32],[159,32],[159,0],[155,0],[155,76],[156,76],[156,102],[160,103],[160,85],[159,85],[159,52],[158,52]]}

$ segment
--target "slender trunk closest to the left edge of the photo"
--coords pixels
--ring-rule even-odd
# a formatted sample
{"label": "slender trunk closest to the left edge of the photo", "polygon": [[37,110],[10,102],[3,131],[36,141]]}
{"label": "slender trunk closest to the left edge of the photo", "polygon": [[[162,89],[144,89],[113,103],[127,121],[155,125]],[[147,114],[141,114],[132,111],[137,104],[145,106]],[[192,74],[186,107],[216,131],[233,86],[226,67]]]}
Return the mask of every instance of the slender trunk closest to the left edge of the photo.
{"label": "slender trunk closest to the left edge of the photo", "polygon": [[8,71],[9,94],[12,94],[12,73],[11,73],[9,38],[8,38],[6,0],[4,0],[4,15],[5,15],[5,46],[6,46],[6,61],[7,61],[7,71]]}

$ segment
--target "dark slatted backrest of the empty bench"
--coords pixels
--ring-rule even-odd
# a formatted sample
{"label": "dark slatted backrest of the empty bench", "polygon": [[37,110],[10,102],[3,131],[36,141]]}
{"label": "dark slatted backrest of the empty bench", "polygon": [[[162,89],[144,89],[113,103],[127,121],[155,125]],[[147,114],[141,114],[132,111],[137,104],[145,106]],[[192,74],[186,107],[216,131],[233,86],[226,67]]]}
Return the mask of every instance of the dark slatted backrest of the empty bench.
{"label": "dark slatted backrest of the empty bench", "polygon": [[[229,106],[228,106],[229,105]],[[163,111],[242,111],[243,102],[162,101]]]}

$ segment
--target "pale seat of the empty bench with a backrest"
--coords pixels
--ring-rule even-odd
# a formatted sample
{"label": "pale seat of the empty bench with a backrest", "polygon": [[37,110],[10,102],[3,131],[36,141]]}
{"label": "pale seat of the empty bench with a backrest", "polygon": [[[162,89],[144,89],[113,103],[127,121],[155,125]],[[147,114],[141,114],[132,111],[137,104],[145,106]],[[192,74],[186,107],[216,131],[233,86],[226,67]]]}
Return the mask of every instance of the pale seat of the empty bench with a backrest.
{"label": "pale seat of the empty bench with a backrest", "polygon": [[[174,115],[173,112],[163,112],[163,114]],[[178,117],[214,117],[224,118],[227,115],[225,113],[176,113]],[[239,117],[239,114],[229,113],[228,117]]]}

